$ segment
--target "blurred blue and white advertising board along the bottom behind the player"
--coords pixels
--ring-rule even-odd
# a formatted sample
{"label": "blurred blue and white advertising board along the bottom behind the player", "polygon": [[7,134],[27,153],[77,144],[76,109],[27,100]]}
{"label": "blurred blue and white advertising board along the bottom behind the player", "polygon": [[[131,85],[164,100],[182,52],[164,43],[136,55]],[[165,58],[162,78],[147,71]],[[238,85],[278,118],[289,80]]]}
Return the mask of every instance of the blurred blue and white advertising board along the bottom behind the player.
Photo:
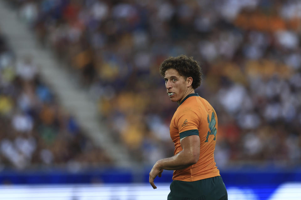
{"label": "blurred blue and white advertising board along the bottom behind the player", "polygon": [[[155,183],[158,186],[158,189],[160,189],[154,191],[148,184],[149,170],[150,169],[139,171],[132,169],[111,168],[82,171],[77,173],[71,173],[62,170],[39,172],[2,171],[0,173],[0,183],[2,183],[2,186],[0,187],[0,194],[2,188],[4,191],[3,195],[5,195],[5,191],[8,191],[9,186],[11,187],[10,189],[12,191],[16,190],[16,194],[20,192],[18,190],[26,190],[25,193],[29,194],[32,188],[36,188],[36,190],[34,191],[37,191],[37,189],[41,189],[42,187],[41,190],[44,191],[45,187],[43,187],[43,185],[48,185],[48,189],[46,190],[49,190],[51,194],[51,190],[56,190],[57,188],[65,188],[66,191],[73,191],[70,188],[82,187],[81,185],[84,184],[84,188],[86,189],[83,189],[83,191],[90,191],[90,187],[96,187],[95,185],[97,185],[97,189],[94,190],[96,191],[95,197],[101,197],[101,199],[106,199],[105,197],[108,197],[108,199],[111,199],[111,197],[112,199],[119,199],[115,197],[120,197],[120,195],[122,196],[124,193],[115,191],[116,188],[119,188],[126,194],[130,193],[130,199],[147,199],[146,196],[151,195],[156,195],[156,197],[158,197],[156,198],[157,200],[161,198],[166,199],[166,195],[169,192],[169,184],[172,181],[172,171],[164,171],[162,173],[162,177],[155,179]],[[229,199],[301,199],[300,170],[222,171],[221,176],[227,187]],[[129,185],[131,185],[132,187],[129,187]],[[104,187],[106,187],[107,189],[104,189]],[[107,193],[103,191],[111,191],[111,193],[110,195],[107,195]],[[141,191],[144,191],[143,195]],[[13,193],[9,193],[7,195],[12,195]],[[159,193],[161,196],[159,195]],[[86,193],[84,192],[81,195],[85,194]],[[64,195],[68,196],[71,194],[64,193]],[[12,198],[12,196],[10,197]],[[81,199],[81,197],[84,196],[78,196],[78,199]],[[39,198],[43,199],[42,196],[40,196]],[[18,198],[16,197],[16,199],[22,198],[18,196]]]}

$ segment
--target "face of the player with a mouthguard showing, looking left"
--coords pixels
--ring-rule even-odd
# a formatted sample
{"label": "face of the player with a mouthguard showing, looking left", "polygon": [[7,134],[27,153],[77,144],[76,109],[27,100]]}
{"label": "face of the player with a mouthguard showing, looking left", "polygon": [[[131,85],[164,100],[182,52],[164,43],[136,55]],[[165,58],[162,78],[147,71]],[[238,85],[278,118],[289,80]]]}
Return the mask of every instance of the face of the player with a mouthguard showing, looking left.
{"label": "face of the player with a mouthguard showing, looking left", "polygon": [[166,70],[164,76],[165,86],[167,94],[173,102],[180,103],[188,94],[189,86],[191,85],[188,83],[188,79],[185,80],[176,69],[170,68]]}

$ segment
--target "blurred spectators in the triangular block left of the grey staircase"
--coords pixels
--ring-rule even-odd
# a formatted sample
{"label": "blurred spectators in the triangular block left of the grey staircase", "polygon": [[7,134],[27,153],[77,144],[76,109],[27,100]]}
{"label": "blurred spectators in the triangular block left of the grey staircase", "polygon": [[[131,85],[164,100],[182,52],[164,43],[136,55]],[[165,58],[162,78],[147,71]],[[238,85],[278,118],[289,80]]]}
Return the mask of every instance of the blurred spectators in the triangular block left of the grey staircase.
{"label": "blurred spectators in the triangular block left of the grey staircase", "polygon": [[30,57],[15,58],[0,34],[0,169],[110,163],[37,69]]}

